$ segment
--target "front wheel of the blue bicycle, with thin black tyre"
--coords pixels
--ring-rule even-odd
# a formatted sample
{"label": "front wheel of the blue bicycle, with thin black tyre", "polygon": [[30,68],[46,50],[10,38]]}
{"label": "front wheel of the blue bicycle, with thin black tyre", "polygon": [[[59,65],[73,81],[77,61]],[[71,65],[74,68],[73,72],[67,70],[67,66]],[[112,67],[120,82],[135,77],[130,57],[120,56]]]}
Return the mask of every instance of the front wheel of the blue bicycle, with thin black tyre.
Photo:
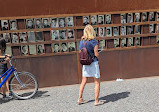
{"label": "front wheel of the blue bicycle, with thin black tyre", "polygon": [[35,76],[29,72],[19,72],[17,74],[21,83],[15,75],[9,81],[9,90],[11,94],[18,99],[29,99],[38,91],[38,82]]}

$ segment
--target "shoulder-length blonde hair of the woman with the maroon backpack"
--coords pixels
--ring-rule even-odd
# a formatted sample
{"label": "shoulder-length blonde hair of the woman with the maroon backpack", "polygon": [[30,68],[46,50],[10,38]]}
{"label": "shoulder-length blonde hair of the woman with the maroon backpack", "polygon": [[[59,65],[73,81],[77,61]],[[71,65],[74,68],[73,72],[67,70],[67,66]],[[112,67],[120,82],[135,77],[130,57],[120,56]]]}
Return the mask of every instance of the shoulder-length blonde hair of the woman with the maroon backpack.
{"label": "shoulder-length blonde hair of the woman with the maroon backpack", "polygon": [[83,31],[84,35],[82,36],[82,40],[85,39],[85,40],[91,40],[91,39],[94,39],[96,37],[96,34],[95,34],[95,31],[94,31],[94,28],[91,26],[91,25],[86,25],[86,27],[84,28],[84,31]]}

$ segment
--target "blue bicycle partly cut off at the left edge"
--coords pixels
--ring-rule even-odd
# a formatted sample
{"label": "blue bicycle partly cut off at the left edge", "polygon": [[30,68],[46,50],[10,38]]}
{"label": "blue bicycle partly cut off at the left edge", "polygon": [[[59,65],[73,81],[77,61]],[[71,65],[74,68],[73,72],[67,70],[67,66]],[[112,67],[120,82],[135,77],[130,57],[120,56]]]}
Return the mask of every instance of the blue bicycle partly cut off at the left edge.
{"label": "blue bicycle partly cut off at the left edge", "polygon": [[36,77],[29,72],[17,72],[16,68],[14,68],[12,65],[12,59],[13,56],[11,56],[9,60],[11,67],[0,76],[0,79],[4,77],[0,83],[0,88],[11,76],[11,74],[14,73],[14,75],[9,80],[9,91],[11,95],[14,98],[22,100],[32,98],[38,91],[38,81]]}

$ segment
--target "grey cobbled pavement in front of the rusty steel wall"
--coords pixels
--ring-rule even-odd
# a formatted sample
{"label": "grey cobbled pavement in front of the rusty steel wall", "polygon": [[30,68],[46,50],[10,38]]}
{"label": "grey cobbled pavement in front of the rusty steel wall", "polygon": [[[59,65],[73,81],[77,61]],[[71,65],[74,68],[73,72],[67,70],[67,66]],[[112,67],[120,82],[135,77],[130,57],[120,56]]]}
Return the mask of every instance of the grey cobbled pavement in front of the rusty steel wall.
{"label": "grey cobbled pavement in front of the rusty steel wall", "polygon": [[89,103],[77,105],[80,85],[40,89],[30,100],[0,99],[0,112],[159,112],[159,77],[102,82],[100,99],[94,106],[94,84],[87,84],[84,98]]}

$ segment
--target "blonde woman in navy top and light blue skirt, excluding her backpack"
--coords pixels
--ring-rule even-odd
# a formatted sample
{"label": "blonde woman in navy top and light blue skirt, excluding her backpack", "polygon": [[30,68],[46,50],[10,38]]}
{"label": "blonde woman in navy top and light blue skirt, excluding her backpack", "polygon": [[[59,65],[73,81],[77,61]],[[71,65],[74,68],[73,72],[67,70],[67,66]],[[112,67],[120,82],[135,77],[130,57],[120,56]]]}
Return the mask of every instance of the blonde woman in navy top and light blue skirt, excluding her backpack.
{"label": "blonde woman in navy top and light blue skirt, excluding her backpack", "polygon": [[[96,34],[91,25],[87,25],[84,28],[84,36],[81,38],[79,49],[81,50],[85,44],[87,51],[93,57],[93,62],[90,65],[83,65],[82,68],[82,82],[79,89],[79,99],[78,104],[84,104],[87,103],[87,101],[83,100],[82,94],[84,87],[87,82],[88,77],[93,77],[95,82],[95,103],[94,105],[101,105],[104,104],[104,101],[99,101],[99,91],[100,91],[100,70],[98,65],[98,42],[95,39]],[[79,51],[80,52],[80,51]]]}

